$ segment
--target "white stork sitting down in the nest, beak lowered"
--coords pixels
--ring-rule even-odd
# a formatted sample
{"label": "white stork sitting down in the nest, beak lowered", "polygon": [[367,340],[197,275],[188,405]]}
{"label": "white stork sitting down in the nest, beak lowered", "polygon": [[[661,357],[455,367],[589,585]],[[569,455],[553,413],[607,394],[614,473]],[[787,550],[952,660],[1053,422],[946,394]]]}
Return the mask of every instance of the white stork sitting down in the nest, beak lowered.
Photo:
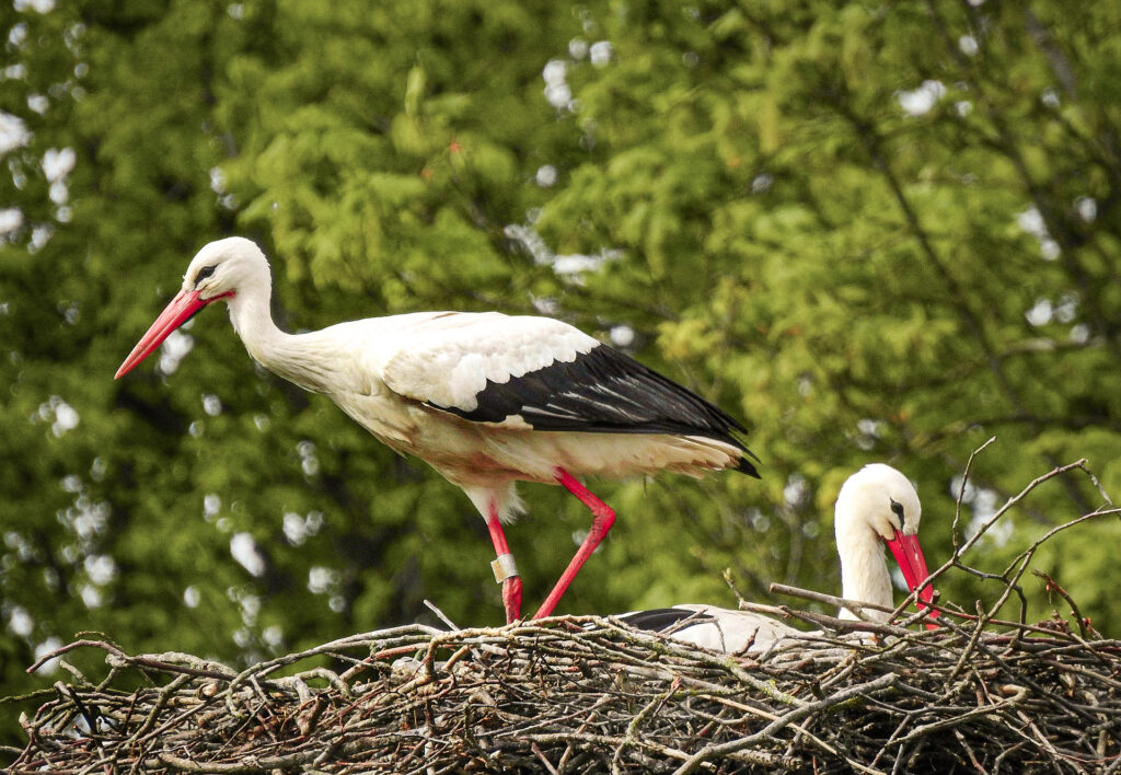
{"label": "white stork sitting down in the nest, beak lowered", "polygon": [[[842,598],[884,608],[893,606],[883,544],[895,555],[910,591],[926,581],[929,573],[918,542],[923,507],[918,492],[902,473],[883,463],[865,465],[841,487],[834,514]],[[934,597],[933,587],[923,587],[918,597],[919,607],[926,608],[925,603]],[[933,611],[930,618],[937,615],[938,611]],[[839,616],[859,618],[846,608]],[[865,616],[873,621],[887,621],[889,615],[865,609]],[[730,654],[744,649],[763,652],[782,638],[805,635],[761,613],[693,603],[624,613],[620,618],[634,627],[666,633],[675,640]],[[926,626],[937,627],[929,621]]]}

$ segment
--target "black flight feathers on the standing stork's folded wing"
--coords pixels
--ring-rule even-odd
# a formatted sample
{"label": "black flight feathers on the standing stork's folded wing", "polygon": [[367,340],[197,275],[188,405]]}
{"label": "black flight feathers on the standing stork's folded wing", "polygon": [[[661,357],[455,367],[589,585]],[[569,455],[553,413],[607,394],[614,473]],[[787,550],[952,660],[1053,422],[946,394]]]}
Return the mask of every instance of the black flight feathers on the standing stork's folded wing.
{"label": "black flight feathers on the standing stork's folded wing", "polygon": [[478,405],[470,412],[432,406],[476,423],[500,423],[517,415],[537,431],[705,436],[742,450],[738,469],[759,476],[748,461],[754,455],[735,435],[745,433],[739,422],[605,344],[571,362],[550,363],[507,382],[488,380],[475,400]]}

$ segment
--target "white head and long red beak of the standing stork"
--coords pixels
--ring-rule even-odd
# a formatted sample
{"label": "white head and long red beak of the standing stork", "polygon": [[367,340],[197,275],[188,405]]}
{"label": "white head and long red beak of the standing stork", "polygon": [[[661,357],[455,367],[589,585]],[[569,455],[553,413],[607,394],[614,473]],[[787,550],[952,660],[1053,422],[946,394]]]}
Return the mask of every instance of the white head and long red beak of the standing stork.
{"label": "white head and long red beak of the standing stork", "polygon": [[233,305],[242,299],[252,298],[263,302],[267,312],[271,293],[269,262],[252,241],[243,237],[228,237],[204,246],[191,259],[187,274],[183,276],[183,288],[140,338],[117,370],[115,378],[132,370],[173,331],[207,304],[225,299],[231,303],[232,311]]}

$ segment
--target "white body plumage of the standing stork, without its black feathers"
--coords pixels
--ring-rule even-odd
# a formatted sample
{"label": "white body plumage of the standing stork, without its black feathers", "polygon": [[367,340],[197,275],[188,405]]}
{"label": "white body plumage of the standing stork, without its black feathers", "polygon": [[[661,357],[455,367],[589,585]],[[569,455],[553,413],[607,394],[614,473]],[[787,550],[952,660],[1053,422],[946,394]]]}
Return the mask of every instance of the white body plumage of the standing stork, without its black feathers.
{"label": "white body plumage of the standing stork, without its black feathers", "polygon": [[[742,455],[701,436],[538,431],[518,414],[474,422],[436,408],[475,410],[488,380],[508,384],[600,345],[560,321],[428,312],[277,333],[247,340],[250,354],[328,396],[386,444],[424,459],[464,488],[555,483],[557,467],[605,477],[667,470],[702,476],[734,468]],[[328,371],[317,363],[336,367]]]}

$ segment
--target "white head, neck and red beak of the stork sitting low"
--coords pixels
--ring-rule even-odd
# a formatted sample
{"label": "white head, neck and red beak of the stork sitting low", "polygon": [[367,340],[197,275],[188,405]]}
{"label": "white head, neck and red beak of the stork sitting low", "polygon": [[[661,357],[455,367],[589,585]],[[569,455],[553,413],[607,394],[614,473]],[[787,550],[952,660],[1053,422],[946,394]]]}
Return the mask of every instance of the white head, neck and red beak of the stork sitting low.
{"label": "white head, neck and red beak of the stork sitting low", "polygon": [[[921,516],[914,485],[890,465],[865,465],[845,481],[837,495],[834,522],[844,597],[891,606],[881,541],[899,563],[908,589],[918,589],[928,575],[918,542]],[[919,599],[929,602],[933,593],[930,587],[924,587]]]}

